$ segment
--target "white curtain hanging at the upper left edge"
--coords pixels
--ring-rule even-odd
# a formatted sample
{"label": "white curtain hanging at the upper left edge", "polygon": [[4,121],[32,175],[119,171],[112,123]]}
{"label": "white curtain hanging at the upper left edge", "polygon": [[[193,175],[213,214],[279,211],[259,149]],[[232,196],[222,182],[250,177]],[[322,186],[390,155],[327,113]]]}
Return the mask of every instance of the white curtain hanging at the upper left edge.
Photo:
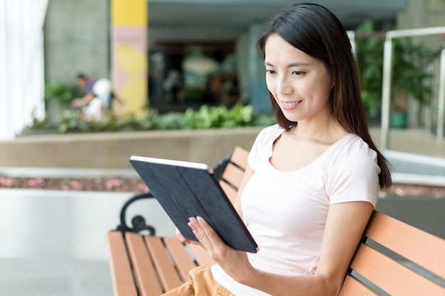
{"label": "white curtain hanging at the upper left edge", "polygon": [[48,0],[0,0],[0,141],[43,118],[43,23]]}

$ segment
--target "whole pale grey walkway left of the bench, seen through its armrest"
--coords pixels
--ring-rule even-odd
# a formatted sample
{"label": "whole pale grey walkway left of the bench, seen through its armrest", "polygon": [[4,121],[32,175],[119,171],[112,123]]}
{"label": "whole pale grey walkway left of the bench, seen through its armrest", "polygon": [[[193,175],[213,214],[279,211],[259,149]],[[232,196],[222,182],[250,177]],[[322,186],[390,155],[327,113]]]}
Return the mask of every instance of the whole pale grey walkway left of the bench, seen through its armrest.
{"label": "whole pale grey walkway left of the bench, seen through its armrest", "polygon": [[[107,231],[131,193],[0,190],[1,296],[111,296]],[[154,200],[129,207],[157,233],[174,226]],[[128,221],[127,223],[129,223]]]}

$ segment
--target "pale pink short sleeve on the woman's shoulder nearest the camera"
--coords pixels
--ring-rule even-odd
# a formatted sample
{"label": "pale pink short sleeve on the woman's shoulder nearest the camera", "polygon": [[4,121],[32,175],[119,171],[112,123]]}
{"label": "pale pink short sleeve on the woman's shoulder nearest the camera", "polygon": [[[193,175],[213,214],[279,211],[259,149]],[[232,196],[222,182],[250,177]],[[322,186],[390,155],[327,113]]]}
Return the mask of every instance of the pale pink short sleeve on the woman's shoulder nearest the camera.
{"label": "pale pink short sleeve on the woman's shoulder nearest the camera", "polygon": [[358,141],[338,158],[326,184],[330,204],[365,201],[374,207],[379,192],[377,153]]}

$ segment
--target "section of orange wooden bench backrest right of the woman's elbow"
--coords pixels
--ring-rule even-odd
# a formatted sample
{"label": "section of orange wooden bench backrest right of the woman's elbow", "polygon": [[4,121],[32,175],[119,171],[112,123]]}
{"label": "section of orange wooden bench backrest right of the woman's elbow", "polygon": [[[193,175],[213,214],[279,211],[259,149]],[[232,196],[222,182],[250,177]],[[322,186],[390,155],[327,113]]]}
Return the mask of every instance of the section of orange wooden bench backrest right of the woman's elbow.
{"label": "section of orange wooden bench backrest right of the woman's elbow", "polygon": [[445,295],[445,240],[374,211],[340,295]]}

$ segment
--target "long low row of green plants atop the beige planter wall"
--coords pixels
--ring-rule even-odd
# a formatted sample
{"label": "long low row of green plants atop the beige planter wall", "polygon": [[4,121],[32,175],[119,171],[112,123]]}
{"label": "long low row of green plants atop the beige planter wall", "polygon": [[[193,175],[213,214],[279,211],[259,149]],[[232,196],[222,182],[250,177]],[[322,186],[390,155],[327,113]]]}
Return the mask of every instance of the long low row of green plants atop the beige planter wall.
{"label": "long low row of green plants atop the beige planter wall", "polygon": [[148,131],[168,129],[198,128],[235,128],[239,126],[269,126],[275,124],[272,114],[254,114],[252,106],[235,104],[230,109],[226,106],[203,105],[198,110],[187,109],[185,112],[159,114],[156,109],[148,109],[141,118],[134,115],[107,114],[98,120],[88,120],[82,113],[65,109],[58,116],[57,126],[48,120],[33,118],[31,130],[54,130],[58,133],[98,132],[98,131]]}

